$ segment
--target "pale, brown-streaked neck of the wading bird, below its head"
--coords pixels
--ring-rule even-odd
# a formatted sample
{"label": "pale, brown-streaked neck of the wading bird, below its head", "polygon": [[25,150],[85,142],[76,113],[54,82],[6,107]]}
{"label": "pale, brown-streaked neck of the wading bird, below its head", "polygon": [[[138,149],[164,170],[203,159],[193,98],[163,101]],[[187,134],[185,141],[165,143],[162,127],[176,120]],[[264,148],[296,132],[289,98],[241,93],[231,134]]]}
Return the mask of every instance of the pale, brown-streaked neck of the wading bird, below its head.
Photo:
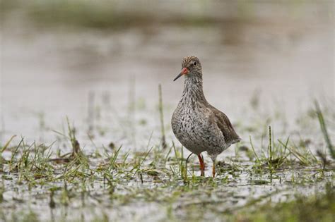
{"label": "pale, brown-streaked neck of the wading bird, below its head", "polygon": [[185,78],[182,100],[193,102],[206,102],[202,87],[202,78]]}

